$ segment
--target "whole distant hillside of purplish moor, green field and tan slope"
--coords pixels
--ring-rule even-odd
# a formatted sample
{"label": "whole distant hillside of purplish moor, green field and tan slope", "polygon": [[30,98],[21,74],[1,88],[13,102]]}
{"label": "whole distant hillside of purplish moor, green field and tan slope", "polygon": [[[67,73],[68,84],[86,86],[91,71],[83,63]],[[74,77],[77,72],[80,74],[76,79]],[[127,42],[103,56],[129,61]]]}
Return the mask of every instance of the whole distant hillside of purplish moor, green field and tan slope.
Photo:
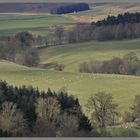
{"label": "whole distant hillside of purplish moor, green field and tan slope", "polygon": [[[65,14],[51,15],[47,10],[59,6],[57,3],[0,3],[0,36],[12,35],[28,31],[35,35],[51,36],[56,25],[71,28],[77,22],[92,22],[102,20],[108,15],[125,12],[140,12],[139,4],[90,4],[91,10]],[[62,3],[65,5],[65,3]]]}

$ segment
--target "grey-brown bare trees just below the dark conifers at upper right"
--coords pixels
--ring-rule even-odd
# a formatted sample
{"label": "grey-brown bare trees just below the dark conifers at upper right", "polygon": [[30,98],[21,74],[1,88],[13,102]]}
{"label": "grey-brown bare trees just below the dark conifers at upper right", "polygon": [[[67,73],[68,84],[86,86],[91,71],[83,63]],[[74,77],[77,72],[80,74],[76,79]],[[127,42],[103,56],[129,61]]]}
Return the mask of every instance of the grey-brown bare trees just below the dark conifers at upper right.
{"label": "grey-brown bare trees just below the dark conifers at upper right", "polygon": [[109,26],[78,24],[67,34],[69,43],[135,38],[140,38],[140,23],[120,23],[118,25]]}

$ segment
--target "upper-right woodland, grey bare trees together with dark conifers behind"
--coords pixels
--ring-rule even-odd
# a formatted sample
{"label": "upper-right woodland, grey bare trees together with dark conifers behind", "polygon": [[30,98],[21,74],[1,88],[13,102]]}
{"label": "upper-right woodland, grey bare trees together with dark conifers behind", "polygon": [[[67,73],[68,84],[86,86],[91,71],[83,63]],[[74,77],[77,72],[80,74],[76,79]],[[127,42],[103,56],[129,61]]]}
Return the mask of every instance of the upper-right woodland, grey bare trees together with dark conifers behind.
{"label": "upper-right woodland, grey bare trees together with dark conifers behind", "polygon": [[69,43],[140,38],[140,13],[125,13],[96,23],[78,23],[67,33]]}

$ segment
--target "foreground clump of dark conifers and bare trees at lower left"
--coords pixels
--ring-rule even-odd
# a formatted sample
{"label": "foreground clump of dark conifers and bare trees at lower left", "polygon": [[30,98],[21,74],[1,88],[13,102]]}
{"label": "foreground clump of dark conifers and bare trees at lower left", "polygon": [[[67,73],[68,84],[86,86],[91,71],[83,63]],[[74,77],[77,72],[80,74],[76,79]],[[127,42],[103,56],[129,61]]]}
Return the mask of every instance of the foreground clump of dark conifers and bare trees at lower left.
{"label": "foreground clump of dark conifers and bare trees at lower left", "polygon": [[[92,126],[79,100],[66,92],[40,92],[0,82],[1,136],[87,136]],[[93,134],[94,135],[94,134]]]}

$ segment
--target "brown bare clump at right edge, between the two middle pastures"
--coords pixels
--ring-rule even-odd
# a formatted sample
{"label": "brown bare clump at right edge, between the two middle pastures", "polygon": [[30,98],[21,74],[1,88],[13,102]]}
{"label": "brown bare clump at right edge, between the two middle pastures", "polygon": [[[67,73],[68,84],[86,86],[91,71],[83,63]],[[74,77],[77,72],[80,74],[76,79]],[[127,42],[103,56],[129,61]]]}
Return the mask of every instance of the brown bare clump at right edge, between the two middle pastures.
{"label": "brown bare clump at right edge, between the two middle pastures", "polygon": [[134,52],[130,52],[123,58],[114,57],[103,62],[89,61],[79,65],[79,71],[85,73],[105,73],[140,75],[140,60]]}

